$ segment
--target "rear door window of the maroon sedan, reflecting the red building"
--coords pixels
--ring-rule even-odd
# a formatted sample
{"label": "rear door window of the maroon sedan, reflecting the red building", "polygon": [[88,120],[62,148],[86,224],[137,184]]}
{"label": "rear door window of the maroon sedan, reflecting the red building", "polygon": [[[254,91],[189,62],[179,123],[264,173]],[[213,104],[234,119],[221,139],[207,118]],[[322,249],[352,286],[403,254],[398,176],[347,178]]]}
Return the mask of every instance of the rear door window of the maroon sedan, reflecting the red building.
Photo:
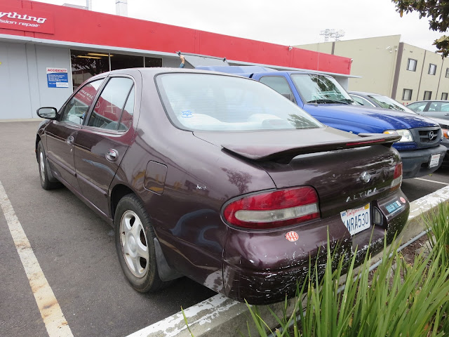
{"label": "rear door window of the maroon sedan, reflecting the red building", "polygon": [[[112,79],[109,79],[95,103],[87,125],[108,130],[128,129],[132,113],[126,112],[123,119],[123,121],[126,121],[126,125],[120,124],[120,121],[122,112],[124,113],[126,109],[132,111],[130,105],[126,109],[125,105],[133,89],[133,84],[133,80],[128,77],[112,77]],[[134,97],[132,97],[132,100],[134,100]]]}

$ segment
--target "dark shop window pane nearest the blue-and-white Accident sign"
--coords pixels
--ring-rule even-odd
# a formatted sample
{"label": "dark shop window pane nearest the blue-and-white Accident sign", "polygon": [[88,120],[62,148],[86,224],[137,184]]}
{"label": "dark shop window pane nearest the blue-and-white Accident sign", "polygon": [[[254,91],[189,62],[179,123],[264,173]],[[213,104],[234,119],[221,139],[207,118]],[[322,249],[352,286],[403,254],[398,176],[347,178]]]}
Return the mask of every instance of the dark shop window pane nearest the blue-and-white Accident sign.
{"label": "dark shop window pane nearest the blue-and-white Accident sign", "polygon": [[72,81],[74,90],[83,81],[102,72],[109,72],[108,53],[95,51],[70,51],[72,61]]}

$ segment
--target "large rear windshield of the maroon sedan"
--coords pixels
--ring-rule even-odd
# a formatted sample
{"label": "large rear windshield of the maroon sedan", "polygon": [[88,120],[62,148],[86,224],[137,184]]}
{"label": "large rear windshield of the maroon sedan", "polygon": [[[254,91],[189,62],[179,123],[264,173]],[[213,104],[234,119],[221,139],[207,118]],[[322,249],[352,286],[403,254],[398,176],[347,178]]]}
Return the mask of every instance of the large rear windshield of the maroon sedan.
{"label": "large rear windshield of the maroon sedan", "polygon": [[156,79],[168,117],[201,131],[292,130],[323,125],[272,88],[218,74],[162,74]]}

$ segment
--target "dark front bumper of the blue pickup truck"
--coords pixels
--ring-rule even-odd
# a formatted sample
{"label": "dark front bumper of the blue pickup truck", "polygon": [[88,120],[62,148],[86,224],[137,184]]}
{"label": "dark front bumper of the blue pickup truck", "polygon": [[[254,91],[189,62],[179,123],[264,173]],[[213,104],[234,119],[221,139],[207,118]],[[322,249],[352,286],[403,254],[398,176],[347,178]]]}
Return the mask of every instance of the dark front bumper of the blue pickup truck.
{"label": "dark front bumper of the blue pickup truck", "polygon": [[[447,150],[447,147],[438,145],[438,147],[431,147],[430,149],[399,152],[403,164],[403,178],[426,176],[427,174],[436,171],[443,163]],[[437,153],[441,154],[440,161],[437,166],[429,169],[431,155]]]}

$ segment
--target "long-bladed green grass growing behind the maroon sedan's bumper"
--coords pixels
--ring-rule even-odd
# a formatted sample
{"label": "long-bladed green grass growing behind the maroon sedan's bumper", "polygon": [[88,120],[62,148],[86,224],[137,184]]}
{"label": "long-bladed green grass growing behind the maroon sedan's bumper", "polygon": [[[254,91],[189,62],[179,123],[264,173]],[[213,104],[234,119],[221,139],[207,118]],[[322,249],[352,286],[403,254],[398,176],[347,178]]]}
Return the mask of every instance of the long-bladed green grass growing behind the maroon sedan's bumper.
{"label": "long-bladed green grass growing behind the maroon sedan's bumper", "polygon": [[[370,272],[367,253],[358,275],[355,256],[349,261],[344,289],[339,280],[343,258],[332,268],[333,256],[327,251],[326,270],[319,280],[318,266],[311,265],[309,277],[297,286],[295,310],[287,313],[287,300],[281,317],[272,310],[281,329],[275,336],[447,336],[449,333],[449,205],[438,208],[427,218],[434,232],[431,252],[406,263],[398,246],[384,244],[382,262]],[[429,235],[430,237],[430,235]],[[335,264],[334,264],[335,265]],[[306,290],[307,289],[307,290]],[[303,308],[303,302],[305,307]],[[304,311],[303,311],[304,309]],[[268,329],[257,307],[248,305],[258,336]],[[297,319],[299,317],[299,319]],[[293,325],[292,325],[293,324]],[[292,326],[290,326],[292,325]],[[248,324],[248,336],[250,329]]]}

